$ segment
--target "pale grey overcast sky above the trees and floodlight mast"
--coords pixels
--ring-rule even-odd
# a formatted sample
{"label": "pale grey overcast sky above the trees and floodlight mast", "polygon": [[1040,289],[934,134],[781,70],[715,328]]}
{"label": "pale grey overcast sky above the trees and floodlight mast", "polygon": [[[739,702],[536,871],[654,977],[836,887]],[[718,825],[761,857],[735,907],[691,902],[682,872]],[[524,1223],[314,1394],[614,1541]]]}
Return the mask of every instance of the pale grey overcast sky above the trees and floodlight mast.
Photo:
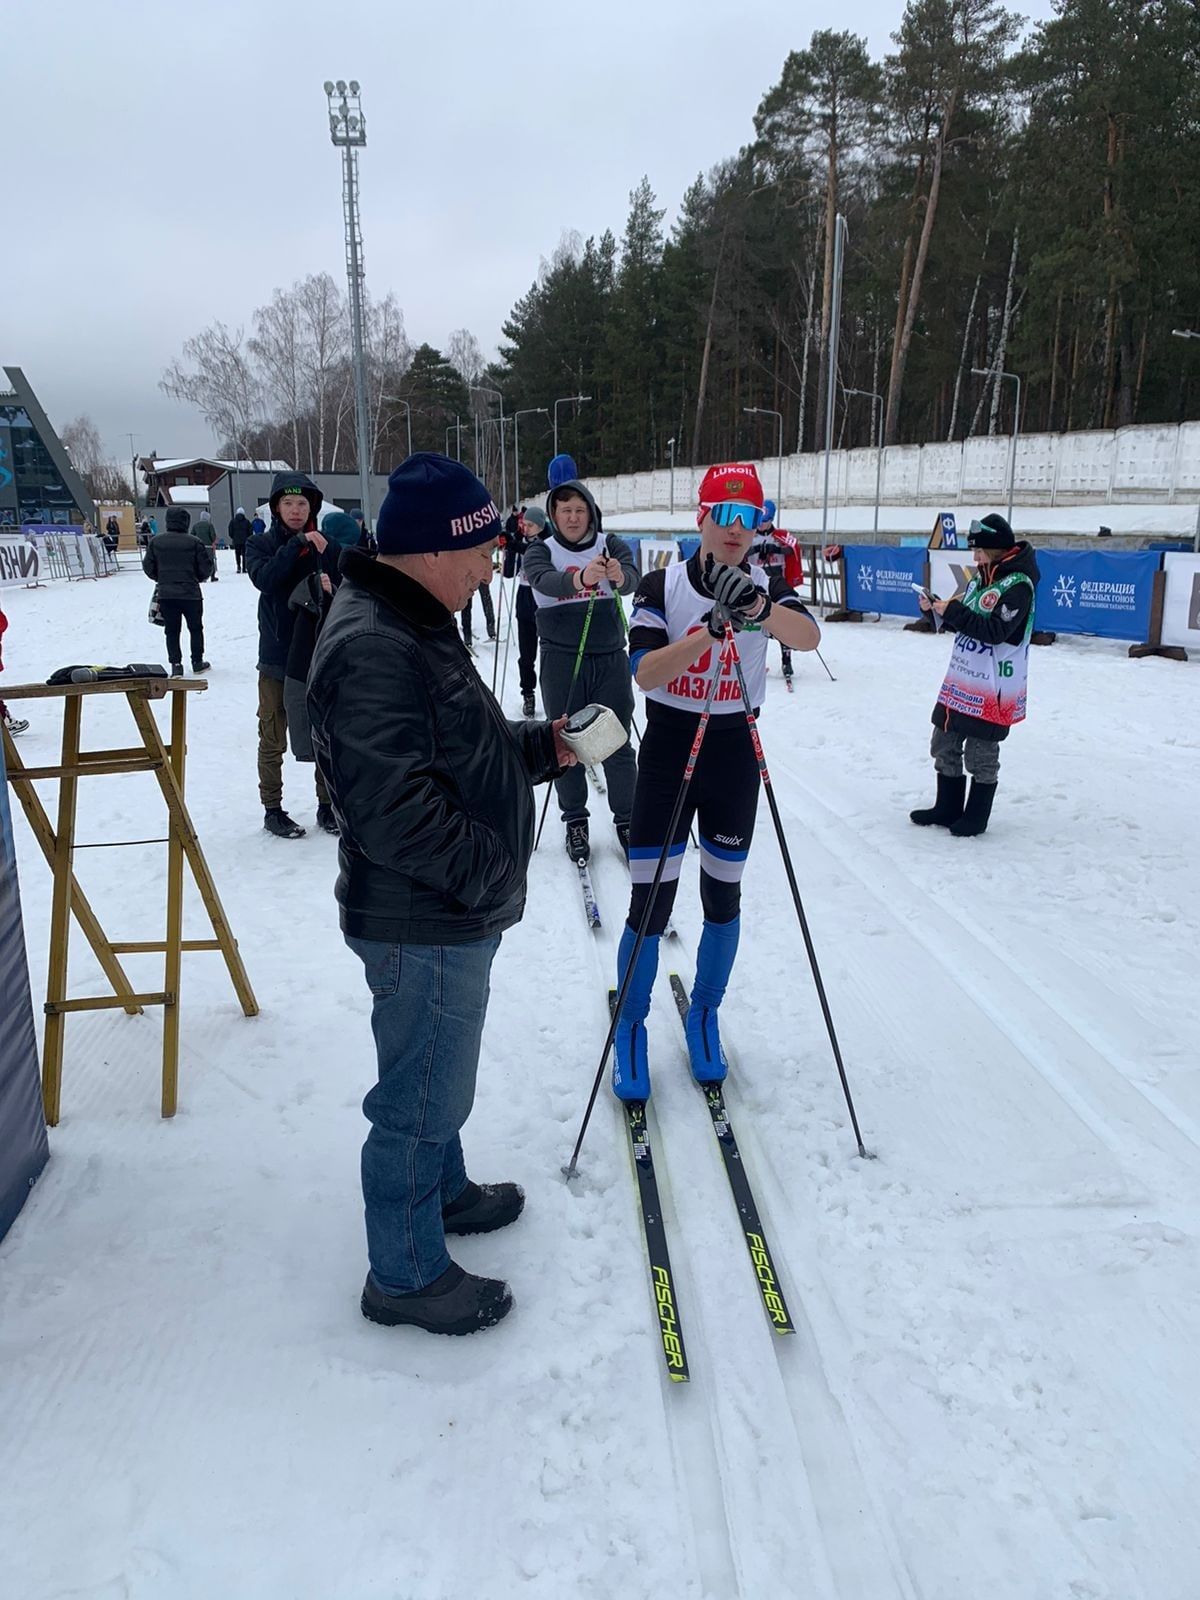
{"label": "pale grey overcast sky above the trees and floodlight mast", "polygon": [[[883,54],[902,0],[42,0],[0,51],[0,363],[114,456],[194,454],[158,389],[182,341],[272,290],[344,283],[325,78],[358,78],[366,278],[413,344],[501,323],[565,229],[618,235],[643,173],[667,222],[752,134],[814,27]],[[1018,6],[1032,19],[1050,0]]]}

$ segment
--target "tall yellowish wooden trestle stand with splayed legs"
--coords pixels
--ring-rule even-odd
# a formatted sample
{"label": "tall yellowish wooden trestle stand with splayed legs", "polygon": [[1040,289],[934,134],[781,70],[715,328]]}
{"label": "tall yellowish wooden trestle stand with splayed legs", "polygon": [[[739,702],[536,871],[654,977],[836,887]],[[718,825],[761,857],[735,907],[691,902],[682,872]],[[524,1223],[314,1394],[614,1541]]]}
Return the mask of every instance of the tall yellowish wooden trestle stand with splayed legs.
{"label": "tall yellowish wooden trestle stand with splayed legs", "polygon": [[[50,971],[46,976],[46,1030],[42,1051],[42,1104],[51,1128],[59,1118],[62,1093],[62,1035],[69,1011],[96,1011],[120,1006],[130,1016],[147,1005],[163,1006],[163,1117],[173,1117],[179,1094],[179,978],[184,950],[221,950],[229,968],[242,1010],[258,1016],[258,1000],[229,930],[221,899],[208,870],[200,840],[184,803],[184,755],[187,750],[187,696],[206,690],[203,678],[122,678],[110,683],[21,683],[5,685],[5,699],[62,701],[62,758],[58,766],[26,766],[8,730],[3,730],[8,781],[16,792],[42,854],[54,878],[50,910]],[[93,694],[123,694],[130,702],[141,744],[120,750],[82,750],[80,723],[83,701]],[[171,741],[155,722],[150,701],[171,698]],[[166,938],[114,944],[75,882],[75,797],[78,779],[104,773],[154,773],[168,814],[166,834]],[[58,824],[37,797],[34,779],[58,778]],[[110,840],[109,843],[160,843],[160,840]],[[85,848],[85,846],[80,846]],[[211,939],[184,939],[184,861],[192,869],[195,886],[213,925]],[[70,918],[75,917],[91,946],[110,995],[67,998],[67,947]],[[163,987],[158,994],[136,994],[118,957],[158,952],[165,955]]]}

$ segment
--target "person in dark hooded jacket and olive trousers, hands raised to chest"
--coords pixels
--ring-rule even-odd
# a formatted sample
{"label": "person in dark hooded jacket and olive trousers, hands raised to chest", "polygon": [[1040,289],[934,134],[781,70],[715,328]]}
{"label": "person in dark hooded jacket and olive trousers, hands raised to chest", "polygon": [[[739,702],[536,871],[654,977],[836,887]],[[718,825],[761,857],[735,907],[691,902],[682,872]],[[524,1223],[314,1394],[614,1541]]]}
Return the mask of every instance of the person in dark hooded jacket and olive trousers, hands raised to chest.
{"label": "person in dark hooded jacket and olive trousers, hands raised to chest", "polygon": [[[283,810],[283,752],[288,712],[283,683],[296,627],[291,597],[310,573],[320,573],[328,539],[317,526],[325,496],[306,472],[278,472],[270,486],[270,526],[246,544],[246,571],[258,602],[258,790],[262,826],[277,838],[304,838]],[[317,814],[330,805],[317,768]],[[323,824],[322,824],[323,826]]]}

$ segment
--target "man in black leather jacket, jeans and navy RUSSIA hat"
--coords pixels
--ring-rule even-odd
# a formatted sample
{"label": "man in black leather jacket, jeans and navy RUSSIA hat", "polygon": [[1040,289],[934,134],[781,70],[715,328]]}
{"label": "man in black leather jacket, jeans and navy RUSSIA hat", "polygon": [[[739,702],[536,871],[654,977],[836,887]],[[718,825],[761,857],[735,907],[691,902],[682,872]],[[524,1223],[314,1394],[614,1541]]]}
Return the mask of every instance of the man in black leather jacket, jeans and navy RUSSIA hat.
{"label": "man in black leather jacket, jeans and navy RUSSIA hat", "polygon": [[499,531],[472,472],[410,456],[379,509],[379,557],[342,555],[309,674],[341,925],[374,1002],[362,1310],[432,1333],[474,1333],[512,1307],[507,1283],[450,1259],[446,1234],[504,1227],[525,1203],[517,1184],[467,1179],[459,1128],[491,962],[525,909],[533,784],[573,762],[560,723],[504,720],[454,626],[491,578]]}

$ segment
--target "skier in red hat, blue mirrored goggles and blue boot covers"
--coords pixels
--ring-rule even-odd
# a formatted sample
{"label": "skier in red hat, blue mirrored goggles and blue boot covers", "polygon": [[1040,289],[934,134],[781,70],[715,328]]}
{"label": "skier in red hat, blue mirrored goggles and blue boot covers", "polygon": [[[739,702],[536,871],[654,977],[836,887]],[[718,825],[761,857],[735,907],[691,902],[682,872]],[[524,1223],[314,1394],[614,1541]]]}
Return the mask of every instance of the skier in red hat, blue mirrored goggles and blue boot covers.
{"label": "skier in red hat, blue mirrored goggles and blue boot covers", "polygon": [[712,619],[714,600],[726,608],[738,634],[738,654],[755,712],[766,690],[768,638],[778,638],[789,650],[816,650],[821,643],[821,629],[782,573],[768,574],[747,562],[762,515],[763,491],[752,466],[730,462],[710,467],[699,490],[698,554],[688,562],[646,573],[634,600],[629,651],[634,675],[646,694],[646,731],[638,754],[629,834],[634,891],[621,933],[618,984],[624,981],[634,952],[699,714],[712,675],[720,677],[712,698],[712,718],[618,1024],[613,1088],[627,1101],[650,1094],[645,1024],[658,971],[659,938],[675,899],[693,816],[699,824],[704,931],[686,1022],[688,1054],[701,1083],[718,1082],[726,1072],[717,1013],[738,954],[741,877],[750,853],[760,779],[741,686],[733,662],[722,658]]}

